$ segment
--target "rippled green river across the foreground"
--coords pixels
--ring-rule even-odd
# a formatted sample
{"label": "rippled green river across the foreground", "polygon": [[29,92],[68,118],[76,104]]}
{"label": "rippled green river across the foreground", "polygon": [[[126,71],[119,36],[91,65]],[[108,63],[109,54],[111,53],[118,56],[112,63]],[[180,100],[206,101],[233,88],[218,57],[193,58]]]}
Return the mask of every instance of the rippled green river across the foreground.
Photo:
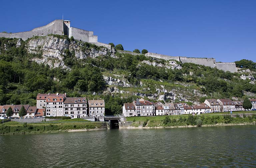
{"label": "rippled green river across the foreground", "polygon": [[0,167],[255,167],[256,126],[0,135]]}

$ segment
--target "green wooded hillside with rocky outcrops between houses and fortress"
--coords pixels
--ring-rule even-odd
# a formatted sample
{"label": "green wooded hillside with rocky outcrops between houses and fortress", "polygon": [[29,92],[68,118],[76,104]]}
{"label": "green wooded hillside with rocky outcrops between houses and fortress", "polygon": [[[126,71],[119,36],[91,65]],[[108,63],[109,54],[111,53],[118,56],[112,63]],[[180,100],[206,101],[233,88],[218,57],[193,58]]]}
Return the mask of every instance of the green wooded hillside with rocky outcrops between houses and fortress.
{"label": "green wooded hillside with rocky outcrops between houses and fortress", "polygon": [[[52,50],[60,55],[51,55]],[[254,71],[255,63],[249,64],[246,67]],[[106,115],[118,114],[123,103],[137,97],[191,102],[205,98],[241,99],[244,95],[255,98],[255,77],[254,72],[230,73],[139,53],[113,53],[59,35],[27,41],[0,38],[0,105],[36,105],[38,93],[58,92],[67,93],[68,97],[100,97],[105,100]]]}

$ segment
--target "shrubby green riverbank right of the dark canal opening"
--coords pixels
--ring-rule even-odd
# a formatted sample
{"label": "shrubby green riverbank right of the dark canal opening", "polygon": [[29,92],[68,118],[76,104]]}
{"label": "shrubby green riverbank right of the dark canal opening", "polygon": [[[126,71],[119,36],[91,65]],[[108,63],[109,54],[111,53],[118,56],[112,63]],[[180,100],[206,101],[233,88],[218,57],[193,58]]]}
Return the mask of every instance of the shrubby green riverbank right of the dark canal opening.
{"label": "shrubby green riverbank right of the dark canal opening", "polygon": [[[133,117],[134,118],[134,117]],[[134,121],[135,119],[135,121]],[[133,127],[170,127],[170,126],[206,126],[206,125],[221,125],[221,124],[251,124],[256,122],[256,114],[248,116],[240,115],[200,115],[200,116],[156,116],[156,117],[141,117],[133,119],[131,126]],[[144,121],[143,121],[144,119]],[[129,121],[129,120],[127,120]]]}

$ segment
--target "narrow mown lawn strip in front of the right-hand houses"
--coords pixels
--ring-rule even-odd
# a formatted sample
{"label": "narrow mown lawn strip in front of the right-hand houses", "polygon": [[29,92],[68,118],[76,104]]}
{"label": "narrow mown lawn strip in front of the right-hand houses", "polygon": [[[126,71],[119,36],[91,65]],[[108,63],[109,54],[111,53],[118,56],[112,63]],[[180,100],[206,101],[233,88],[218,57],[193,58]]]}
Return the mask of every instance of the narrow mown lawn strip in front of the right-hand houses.
{"label": "narrow mown lawn strip in front of the right-hand houses", "polygon": [[[256,113],[256,111],[237,111],[237,112],[232,112],[232,114],[247,114],[247,113]],[[208,115],[226,115],[230,114],[230,112],[221,112],[221,113],[204,113],[200,115],[195,115],[195,116],[208,116]],[[187,118],[188,116],[191,116],[192,114],[184,114],[184,115],[173,115],[169,116],[170,119],[178,119],[180,117],[185,117]],[[138,122],[144,122],[147,119],[149,121],[161,121],[165,118],[165,116],[140,116],[140,117],[126,117],[126,121],[134,121]]]}

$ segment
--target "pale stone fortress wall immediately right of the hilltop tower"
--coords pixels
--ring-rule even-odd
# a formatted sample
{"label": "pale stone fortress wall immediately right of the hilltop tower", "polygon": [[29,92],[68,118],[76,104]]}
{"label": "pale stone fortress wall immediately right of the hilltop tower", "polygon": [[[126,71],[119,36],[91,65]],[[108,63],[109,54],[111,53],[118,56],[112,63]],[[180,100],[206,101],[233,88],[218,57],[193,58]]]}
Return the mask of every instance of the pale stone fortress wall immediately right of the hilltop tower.
{"label": "pale stone fortress wall immediately right of the hilltop tower", "polygon": [[84,42],[98,42],[98,37],[93,32],[71,27],[69,28],[69,37],[73,36],[75,40]]}

